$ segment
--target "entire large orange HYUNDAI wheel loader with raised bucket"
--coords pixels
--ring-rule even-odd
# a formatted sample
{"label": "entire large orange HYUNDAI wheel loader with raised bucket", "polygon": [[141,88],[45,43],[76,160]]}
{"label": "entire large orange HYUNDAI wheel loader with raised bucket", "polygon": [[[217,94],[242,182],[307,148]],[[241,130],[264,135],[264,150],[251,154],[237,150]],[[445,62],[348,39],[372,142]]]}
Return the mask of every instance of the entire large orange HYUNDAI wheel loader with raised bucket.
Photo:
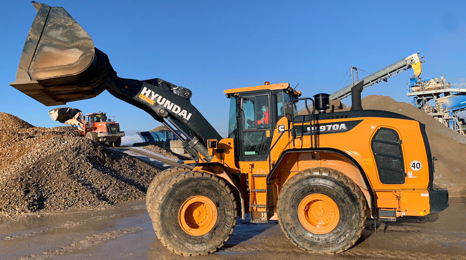
{"label": "entire large orange HYUNDAI wheel loader with raised bucket", "polygon": [[225,90],[222,138],[190,103],[189,89],[118,77],[65,9],[33,5],[11,86],[45,105],[106,89],[166,125],[195,160],[194,168],[160,173],[147,191],[155,233],[176,254],[215,252],[245,214],[253,223],[278,221],[301,249],[338,253],[358,241],[368,218],[397,221],[448,207],[448,191],[433,184],[424,125],[414,119],[362,110],[360,95],[352,110],[325,113],[328,95],[303,98],[288,83],[266,83]]}

